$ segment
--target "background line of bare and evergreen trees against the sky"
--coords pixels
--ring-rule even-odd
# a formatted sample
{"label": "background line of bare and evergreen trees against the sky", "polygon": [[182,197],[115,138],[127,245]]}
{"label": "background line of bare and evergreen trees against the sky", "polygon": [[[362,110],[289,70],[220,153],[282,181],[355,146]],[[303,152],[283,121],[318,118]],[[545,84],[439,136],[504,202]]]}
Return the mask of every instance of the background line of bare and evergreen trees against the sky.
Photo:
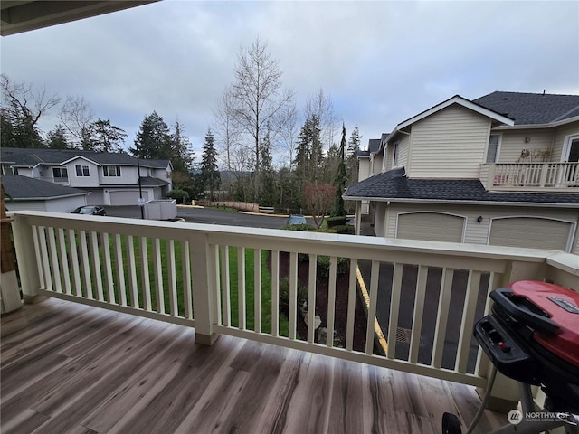
{"label": "background line of bare and evergreen trees against the sky", "polygon": [[[182,123],[177,119],[169,127],[156,111],[143,119],[128,152],[170,159],[174,194],[184,199],[253,202],[297,212],[311,207],[307,191],[311,198],[318,186],[328,185],[341,199],[346,186],[357,181],[358,127],[346,140],[346,127],[321,88],[299,115],[293,90],[283,86],[280,62],[260,39],[240,47],[233,72],[233,82],[214,106],[199,161]],[[82,97],[61,99],[5,75],[1,79],[2,146],[123,151],[127,133],[109,118],[97,118]],[[44,134],[39,120],[52,112],[60,122]]]}

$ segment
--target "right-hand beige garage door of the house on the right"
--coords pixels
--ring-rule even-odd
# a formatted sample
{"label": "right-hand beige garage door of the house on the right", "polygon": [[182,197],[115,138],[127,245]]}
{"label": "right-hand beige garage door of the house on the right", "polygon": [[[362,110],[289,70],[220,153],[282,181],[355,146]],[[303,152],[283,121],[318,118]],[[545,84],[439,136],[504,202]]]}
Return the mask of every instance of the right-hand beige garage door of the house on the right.
{"label": "right-hand beige garage door of the house on the right", "polygon": [[566,250],[572,224],[533,217],[493,219],[489,244],[530,249]]}

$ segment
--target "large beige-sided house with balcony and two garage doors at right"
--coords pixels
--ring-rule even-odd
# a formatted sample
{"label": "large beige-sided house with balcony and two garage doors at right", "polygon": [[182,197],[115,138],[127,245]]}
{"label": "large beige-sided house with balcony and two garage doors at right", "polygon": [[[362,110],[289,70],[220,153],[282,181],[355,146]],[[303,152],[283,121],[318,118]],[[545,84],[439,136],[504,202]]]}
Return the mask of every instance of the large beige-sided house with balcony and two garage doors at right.
{"label": "large beige-sided house with balcony and two garage doors at right", "polygon": [[367,201],[377,236],[579,254],[579,96],[457,95],[369,145],[358,231]]}

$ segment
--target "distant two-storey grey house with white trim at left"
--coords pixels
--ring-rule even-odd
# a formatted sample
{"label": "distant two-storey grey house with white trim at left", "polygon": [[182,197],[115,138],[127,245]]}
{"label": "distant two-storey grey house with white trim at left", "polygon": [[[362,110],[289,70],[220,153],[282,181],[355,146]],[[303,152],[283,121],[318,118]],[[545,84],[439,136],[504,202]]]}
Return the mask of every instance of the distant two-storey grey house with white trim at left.
{"label": "distant two-storey grey house with white trim at left", "polygon": [[[5,147],[0,163],[2,175],[24,175],[90,192],[90,205],[132,205],[140,197],[137,158],[125,153]],[[172,188],[169,160],[139,163],[145,202],[166,197]]]}

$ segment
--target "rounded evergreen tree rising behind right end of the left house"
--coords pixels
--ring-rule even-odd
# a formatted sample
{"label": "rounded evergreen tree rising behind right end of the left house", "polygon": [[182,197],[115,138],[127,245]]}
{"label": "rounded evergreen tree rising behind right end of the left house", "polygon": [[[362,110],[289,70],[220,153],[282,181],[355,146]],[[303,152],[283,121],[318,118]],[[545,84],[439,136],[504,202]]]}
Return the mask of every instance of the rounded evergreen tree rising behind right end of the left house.
{"label": "rounded evergreen tree rising behind right end of the left house", "polygon": [[174,156],[172,142],[169,127],[163,118],[153,111],[143,119],[135,138],[135,147],[128,150],[133,156],[140,158],[170,160]]}

